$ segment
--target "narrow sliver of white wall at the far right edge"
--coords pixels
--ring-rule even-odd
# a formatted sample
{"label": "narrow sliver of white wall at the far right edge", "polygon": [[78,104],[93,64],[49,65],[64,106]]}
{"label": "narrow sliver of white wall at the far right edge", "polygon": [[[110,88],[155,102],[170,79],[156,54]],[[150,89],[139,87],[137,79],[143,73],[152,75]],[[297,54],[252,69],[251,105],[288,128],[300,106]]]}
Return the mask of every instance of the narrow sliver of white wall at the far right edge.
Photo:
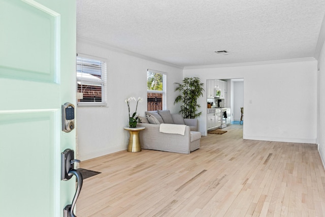
{"label": "narrow sliver of white wall at the far right edge", "polygon": [[325,43],[318,58],[318,151],[325,167]]}

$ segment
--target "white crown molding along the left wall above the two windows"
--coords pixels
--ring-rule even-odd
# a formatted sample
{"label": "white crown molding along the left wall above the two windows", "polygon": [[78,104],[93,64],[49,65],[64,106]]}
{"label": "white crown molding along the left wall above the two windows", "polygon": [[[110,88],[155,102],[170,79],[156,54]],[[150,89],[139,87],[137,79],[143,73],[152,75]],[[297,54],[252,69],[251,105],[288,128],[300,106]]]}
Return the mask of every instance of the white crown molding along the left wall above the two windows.
{"label": "white crown molding along the left wall above the two windows", "polygon": [[101,47],[101,48],[106,48],[108,50],[112,50],[112,51],[115,51],[115,52],[124,53],[124,54],[130,55],[130,56],[135,56],[135,57],[138,57],[138,58],[141,58],[141,59],[153,61],[153,62],[158,63],[158,64],[163,64],[163,65],[175,67],[175,68],[178,68],[178,69],[183,69],[182,66],[167,63],[165,61],[161,61],[161,60],[158,60],[158,59],[155,59],[155,58],[152,58],[152,57],[149,57],[149,56],[145,56],[145,55],[142,55],[142,54],[139,54],[139,53],[134,53],[132,51],[124,50],[124,49],[118,48],[116,46],[107,44],[105,42],[101,42],[101,41],[97,41],[97,40],[93,40],[93,39],[89,39],[89,38],[85,38],[85,37],[80,37],[80,36],[77,37],[77,42],[82,42],[82,43],[98,46],[98,47]]}

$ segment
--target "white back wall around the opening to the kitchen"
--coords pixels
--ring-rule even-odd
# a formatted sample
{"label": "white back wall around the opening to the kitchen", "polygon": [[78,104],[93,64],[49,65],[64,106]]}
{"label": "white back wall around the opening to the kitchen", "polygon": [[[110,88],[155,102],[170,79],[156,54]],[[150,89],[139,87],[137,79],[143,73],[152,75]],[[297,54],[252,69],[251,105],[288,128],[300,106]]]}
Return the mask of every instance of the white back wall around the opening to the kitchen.
{"label": "white back wall around the opening to the kitchen", "polygon": [[[317,61],[186,67],[184,77],[244,78],[244,139],[316,143]],[[204,94],[206,96],[206,94]],[[204,104],[206,98],[200,98]],[[206,135],[206,109],[199,129]]]}

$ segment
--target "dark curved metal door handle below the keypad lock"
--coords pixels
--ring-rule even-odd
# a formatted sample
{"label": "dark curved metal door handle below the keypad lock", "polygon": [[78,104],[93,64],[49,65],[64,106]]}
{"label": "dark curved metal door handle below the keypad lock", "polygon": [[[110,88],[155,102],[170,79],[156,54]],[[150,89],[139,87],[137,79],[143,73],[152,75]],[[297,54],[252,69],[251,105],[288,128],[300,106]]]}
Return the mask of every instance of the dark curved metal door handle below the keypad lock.
{"label": "dark curved metal door handle below the keypad lock", "polygon": [[75,163],[80,163],[80,161],[75,159],[74,150],[66,149],[61,153],[61,180],[67,181],[74,175],[77,178],[77,189],[75,196],[73,197],[72,203],[64,207],[63,217],[77,217],[73,213],[73,210],[82,188],[83,178],[82,174],[78,170],[74,169]]}

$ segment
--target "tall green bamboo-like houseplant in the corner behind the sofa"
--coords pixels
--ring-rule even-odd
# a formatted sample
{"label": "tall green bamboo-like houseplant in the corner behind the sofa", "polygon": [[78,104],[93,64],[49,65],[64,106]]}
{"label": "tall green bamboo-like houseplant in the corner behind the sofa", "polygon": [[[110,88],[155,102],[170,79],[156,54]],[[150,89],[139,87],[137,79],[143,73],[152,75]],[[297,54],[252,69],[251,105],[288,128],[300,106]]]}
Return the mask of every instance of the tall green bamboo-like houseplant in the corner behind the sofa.
{"label": "tall green bamboo-like houseplant in the corner behind the sofa", "polygon": [[174,105],[182,102],[180,114],[184,118],[197,118],[200,117],[202,112],[196,113],[201,106],[198,104],[198,99],[203,97],[203,85],[200,78],[184,78],[183,83],[175,83],[177,87],[175,91],[180,91],[181,94],[176,97]]}

